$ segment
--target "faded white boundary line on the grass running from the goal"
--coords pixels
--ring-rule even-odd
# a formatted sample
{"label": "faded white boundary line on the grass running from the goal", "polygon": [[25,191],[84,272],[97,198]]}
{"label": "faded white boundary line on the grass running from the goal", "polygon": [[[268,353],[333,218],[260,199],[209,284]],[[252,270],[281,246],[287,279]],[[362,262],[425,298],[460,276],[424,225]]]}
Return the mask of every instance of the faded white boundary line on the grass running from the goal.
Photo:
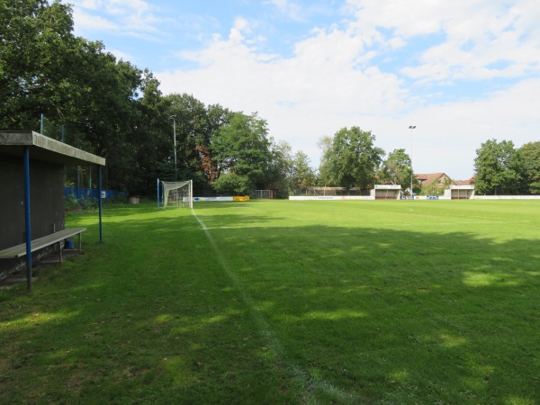
{"label": "faded white boundary line on the grass running from the goal", "polygon": [[320,390],[329,395],[333,395],[338,401],[343,401],[346,403],[358,402],[359,398],[357,398],[356,395],[350,392],[345,392],[344,390],[341,390],[325,380],[320,380],[319,378],[313,377],[305,370],[302,370],[302,368],[298,365],[294,365],[293,362],[287,358],[283,345],[279,339],[275,337],[275,333],[272,331],[272,329],[270,329],[270,326],[264,317],[259,313],[259,311],[257,311],[257,306],[249,294],[247,294],[242,288],[238,281],[237,275],[230,270],[227,261],[223,255],[221,255],[220,247],[218,247],[215,239],[211,236],[210,229],[206,227],[206,224],[197,216],[194,210],[193,216],[201,225],[202,230],[204,230],[204,234],[206,235],[206,238],[208,238],[216,257],[220,262],[221,268],[225,274],[229,276],[233,286],[238,290],[242,302],[244,302],[244,304],[247,306],[253,320],[255,320],[259,333],[265,339],[266,345],[275,353],[275,356],[277,357],[276,361],[287,366],[290,373],[293,375],[293,381],[300,386],[302,390],[302,399],[307,403],[317,403],[318,401],[313,397],[313,395],[315,394],[316,390]]}

